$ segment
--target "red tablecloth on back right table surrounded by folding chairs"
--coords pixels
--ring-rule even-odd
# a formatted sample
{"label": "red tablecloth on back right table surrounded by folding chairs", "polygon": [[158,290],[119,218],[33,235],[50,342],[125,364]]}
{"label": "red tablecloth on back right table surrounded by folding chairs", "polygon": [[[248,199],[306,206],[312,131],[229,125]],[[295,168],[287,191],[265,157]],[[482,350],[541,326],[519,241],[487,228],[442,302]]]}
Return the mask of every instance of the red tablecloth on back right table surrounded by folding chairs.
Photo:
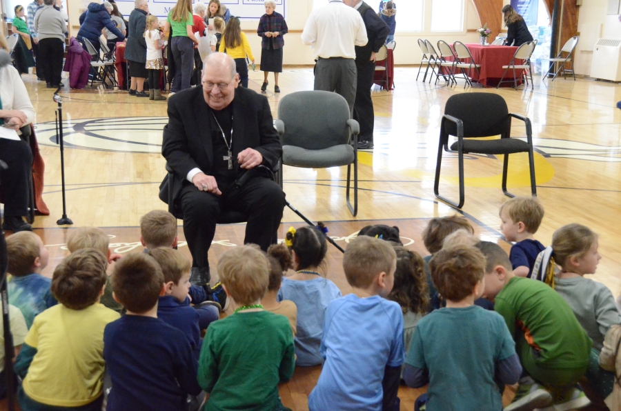
{"label": "red tablecloth on back right table surrounded by folding chairs", "polygon": [[[477,75],[477,70],[473,69],[470,72],[471,79],[479,81],[484,87],[497,86],[498,82],[502,78],[504,68],[511,63],[511,58],[515,54],[517,47],[513,46],[481,46],[480,44],[466,44],[472,54],[472,58],[477,64],[480,64],[480,74]],[[468,62],[466,60],[466,62]],[[521,64],[522,60],[516,60],[515,64]],[[513,70],[506,73],[509,78],[513,79]],[[515,75],[520,74],[515,72]],[[522,81],[518,79],[518,84]],[[504,83],[503,83],[504,84]],[[509,83],[506,83],[509,87]]]}

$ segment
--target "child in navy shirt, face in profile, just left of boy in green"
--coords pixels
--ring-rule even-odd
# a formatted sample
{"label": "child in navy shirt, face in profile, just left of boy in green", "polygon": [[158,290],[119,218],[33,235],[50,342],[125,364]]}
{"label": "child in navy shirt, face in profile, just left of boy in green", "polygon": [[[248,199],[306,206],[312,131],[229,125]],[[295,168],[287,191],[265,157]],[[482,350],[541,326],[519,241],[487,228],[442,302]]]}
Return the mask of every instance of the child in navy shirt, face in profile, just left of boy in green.
{"label": "child in navy shirt, face in profile, just left of boy in green", "polygon": [[[157,318],[183,331],[194,352],[196,361],[201,354],[201,330],[219,319],[219,310],[214,305],[201,308],[190,306],[190,260],[180,251],[172,248],[156,248],[149,255],[157,261],[164,274],[166,295],[159,297]],[[203,315],[199,311],[205,311]]]}

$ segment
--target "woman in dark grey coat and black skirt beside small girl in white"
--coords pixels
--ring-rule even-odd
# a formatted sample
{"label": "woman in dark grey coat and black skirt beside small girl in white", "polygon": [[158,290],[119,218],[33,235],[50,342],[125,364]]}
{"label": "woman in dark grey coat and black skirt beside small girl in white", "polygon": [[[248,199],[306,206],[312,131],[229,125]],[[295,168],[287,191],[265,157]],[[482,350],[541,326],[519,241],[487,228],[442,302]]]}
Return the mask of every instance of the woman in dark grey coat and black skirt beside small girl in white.
{"label": "woman in dark grey coat and black skirt beside small girl in white", "polygon": [[130,14],[127,26],[127,46],[125,46],[125,59],[129,77],[132,79],[129,88],[130,96],[149,97],[149,93],[144,92],[144,79],[148,76],[145,68],[146,41],[144,40],[147,14],[149,14],[148,0],[135,0],[135,9]]}

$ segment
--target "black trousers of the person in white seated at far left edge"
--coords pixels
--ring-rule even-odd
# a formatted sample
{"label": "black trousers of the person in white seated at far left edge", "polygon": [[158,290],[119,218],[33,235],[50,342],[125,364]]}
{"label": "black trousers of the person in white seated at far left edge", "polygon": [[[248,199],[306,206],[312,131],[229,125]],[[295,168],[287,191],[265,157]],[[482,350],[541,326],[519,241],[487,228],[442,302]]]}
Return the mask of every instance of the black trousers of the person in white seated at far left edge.
{"label": "black trousers of the person in white seated at far left edge", "polygon": [[32,151],[26,142],[0,139],[0,160],[8,170],[0,170],[0,191],[4,201],[4,215],[19,217],[28,215]]}

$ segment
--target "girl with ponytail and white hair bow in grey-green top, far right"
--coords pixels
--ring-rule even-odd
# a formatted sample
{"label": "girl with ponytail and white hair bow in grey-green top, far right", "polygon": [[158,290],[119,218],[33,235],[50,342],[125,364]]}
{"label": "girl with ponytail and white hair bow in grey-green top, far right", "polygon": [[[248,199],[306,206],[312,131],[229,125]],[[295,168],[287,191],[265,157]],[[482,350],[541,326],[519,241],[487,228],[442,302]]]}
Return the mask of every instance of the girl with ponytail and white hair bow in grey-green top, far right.
{"label": "girl with ponytail and white hair bow in grey-green top, far right", "polygon": [[598,234],[584,225],[568,224],[554,232],[552,245],[540,253],[535,269],[538,269],[537,279],[551,285],[567,301],[578,323],[593,340],[586,379],[602,397],[607,397],[615,376],[598,365],[600,351],[604,337],[613,325],[621,323],[621,316],[609,288],[584,278],[584,274],[595,274],[601,258]]}

